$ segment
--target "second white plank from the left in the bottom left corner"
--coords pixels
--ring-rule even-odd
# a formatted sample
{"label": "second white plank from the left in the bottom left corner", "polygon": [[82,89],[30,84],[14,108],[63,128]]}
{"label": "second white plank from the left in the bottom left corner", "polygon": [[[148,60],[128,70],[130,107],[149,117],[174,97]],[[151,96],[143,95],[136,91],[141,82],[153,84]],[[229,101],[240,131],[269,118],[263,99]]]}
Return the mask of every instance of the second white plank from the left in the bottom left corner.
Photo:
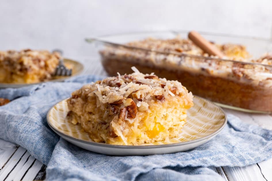
{"label": "second white plank from the left in the bottom left corner", "polygon": [[26,152],[26,149],[22,147],[19,147],[16,150],[14,155],[12,155],[12,157],[9,159],[3,169],[0,170],[0,180],[4,180],[8,176],[9,172],[16,166],[16,164]]}

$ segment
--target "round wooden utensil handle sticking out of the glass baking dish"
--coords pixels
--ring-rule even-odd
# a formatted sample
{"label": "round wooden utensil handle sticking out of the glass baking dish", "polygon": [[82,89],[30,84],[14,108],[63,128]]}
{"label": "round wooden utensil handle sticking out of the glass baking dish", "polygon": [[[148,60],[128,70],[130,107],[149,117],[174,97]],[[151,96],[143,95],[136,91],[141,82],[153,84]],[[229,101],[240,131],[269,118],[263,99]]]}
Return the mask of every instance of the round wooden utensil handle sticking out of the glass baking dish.
{"label": "round wooden utensil handle sticking out of the glass baking dish", "polygon": [[220,58],[223,58],[225,56],[218,48],[216,48],[216,46],[203,38],[203,36],[201,36],[198,32],[189,32],[188,38],[209,55],[215,55]]}

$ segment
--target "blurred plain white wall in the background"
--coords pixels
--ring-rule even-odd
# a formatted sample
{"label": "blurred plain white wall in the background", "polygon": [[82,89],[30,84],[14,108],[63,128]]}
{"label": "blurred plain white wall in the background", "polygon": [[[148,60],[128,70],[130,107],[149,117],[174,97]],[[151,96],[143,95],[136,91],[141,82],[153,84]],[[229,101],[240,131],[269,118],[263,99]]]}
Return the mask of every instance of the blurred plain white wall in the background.
{"label": "blurred plain white wall in the background", "polygon": [[0,0],[0,50],[60,48],[90,56],[85,37],[197,30],[271,38],[272,1]]}

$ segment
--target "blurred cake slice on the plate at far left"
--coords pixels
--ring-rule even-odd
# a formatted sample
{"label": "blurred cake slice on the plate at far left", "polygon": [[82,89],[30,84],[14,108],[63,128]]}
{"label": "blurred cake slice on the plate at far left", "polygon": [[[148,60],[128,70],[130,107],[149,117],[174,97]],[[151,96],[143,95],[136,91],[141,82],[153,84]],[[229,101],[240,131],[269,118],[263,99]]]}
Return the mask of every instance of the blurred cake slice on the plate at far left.
{"label": "blurred cake slice on the plate at far left", "polygon": [[1,83],[36,83],[52,79],[60,60],[58,52],[0,51]]}

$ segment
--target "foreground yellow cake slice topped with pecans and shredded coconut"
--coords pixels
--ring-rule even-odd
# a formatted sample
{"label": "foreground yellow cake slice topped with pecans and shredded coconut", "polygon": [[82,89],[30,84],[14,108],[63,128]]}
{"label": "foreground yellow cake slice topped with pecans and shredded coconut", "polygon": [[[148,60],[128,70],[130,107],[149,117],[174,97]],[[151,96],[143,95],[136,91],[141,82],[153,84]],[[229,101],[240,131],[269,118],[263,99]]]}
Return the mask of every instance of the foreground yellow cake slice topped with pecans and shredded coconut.
{"label": "foreground yellow cake slice topped with pecans and shredded coconut", "polygon": [[134,73],[87,84],[67,100],[67,117],[95,142],[154,143],[177,136],[193,95],[178,81]]}

